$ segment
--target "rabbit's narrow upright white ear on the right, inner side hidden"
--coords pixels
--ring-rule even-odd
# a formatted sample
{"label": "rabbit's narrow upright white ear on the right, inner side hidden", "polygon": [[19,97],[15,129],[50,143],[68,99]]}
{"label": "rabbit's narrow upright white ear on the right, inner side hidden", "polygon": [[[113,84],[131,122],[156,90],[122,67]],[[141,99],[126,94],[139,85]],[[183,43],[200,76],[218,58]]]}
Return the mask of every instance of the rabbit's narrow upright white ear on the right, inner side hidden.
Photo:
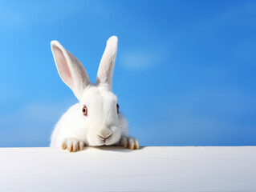
{"label": "rabbit's narrow upright white ear on the right, inner side hidden", "polygon": [[96,78],[96,85],[107,84],[112,89],[112,76],[116,62],[117,37],[108,38],[107,46],[100,60],[100,66]]}

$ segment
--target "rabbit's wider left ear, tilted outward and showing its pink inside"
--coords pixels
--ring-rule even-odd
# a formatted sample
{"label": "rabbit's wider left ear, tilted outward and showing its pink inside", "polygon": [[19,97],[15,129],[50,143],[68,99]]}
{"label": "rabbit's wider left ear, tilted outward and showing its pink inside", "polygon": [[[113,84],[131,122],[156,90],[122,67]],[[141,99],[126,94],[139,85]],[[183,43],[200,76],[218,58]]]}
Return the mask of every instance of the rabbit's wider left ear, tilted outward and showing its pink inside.
{"label": "rabbit's wider left ear, tilted outward and showing its pink inside", "polygon": [[60,78],[71,88],[75,97],[80,100],[85,87],[91,84],[86,70],[81,62],[60,45],[59,42],[51,42],[51,51],[55,58],[55,64]]}

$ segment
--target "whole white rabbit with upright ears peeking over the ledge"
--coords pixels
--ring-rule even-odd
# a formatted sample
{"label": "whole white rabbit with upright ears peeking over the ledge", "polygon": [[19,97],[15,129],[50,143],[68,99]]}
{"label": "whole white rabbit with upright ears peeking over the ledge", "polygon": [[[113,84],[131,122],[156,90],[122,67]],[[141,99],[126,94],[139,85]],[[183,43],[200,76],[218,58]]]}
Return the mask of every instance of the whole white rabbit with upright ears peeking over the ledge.
{"label": "whole white rabbit with upright ears peeking over the ledge", "polygon": [[60,78],[79,103],[59,119],[51,134],[50,146],[62,146],[70,152],[83,150],[83,146],[120,145],[139,149],[138,140],[127,136],[128,122],[119,112],[116,95],[112,93],[117,37],[108,39],[95,84],[91,84],[81,62],[59,42],[52,41],[51,50]]}

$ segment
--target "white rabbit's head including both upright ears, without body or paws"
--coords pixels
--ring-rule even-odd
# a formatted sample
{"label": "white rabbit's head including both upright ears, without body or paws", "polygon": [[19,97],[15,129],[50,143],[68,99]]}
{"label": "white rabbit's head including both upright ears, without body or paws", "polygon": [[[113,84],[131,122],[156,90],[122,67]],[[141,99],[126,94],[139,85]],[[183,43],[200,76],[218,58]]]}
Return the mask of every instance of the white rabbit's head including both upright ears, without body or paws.
{"label": "white rabbit's head including both upright ears, without body or paws", "polygon": [[57,41],[51,50],[60,78],[79,100],[71,121],[75,136],[89,146],[112,145],[126,134],[127,121],[119,112],[116,95],[112,93],[112,75],[116,61],[117,38],[108,39],[100,61],[95,84],[88,78],[83,65]]}

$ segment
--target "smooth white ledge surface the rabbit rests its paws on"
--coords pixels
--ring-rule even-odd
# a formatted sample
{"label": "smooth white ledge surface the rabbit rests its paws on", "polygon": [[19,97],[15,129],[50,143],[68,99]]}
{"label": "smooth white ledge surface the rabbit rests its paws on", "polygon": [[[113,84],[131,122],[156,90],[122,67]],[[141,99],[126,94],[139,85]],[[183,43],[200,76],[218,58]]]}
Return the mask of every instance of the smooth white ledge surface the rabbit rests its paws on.
{"label": "smooth white ledge surface the rabbit rests its paws on", "polygon": [[0,148],[0,191],[256,191],[256,147]]}

